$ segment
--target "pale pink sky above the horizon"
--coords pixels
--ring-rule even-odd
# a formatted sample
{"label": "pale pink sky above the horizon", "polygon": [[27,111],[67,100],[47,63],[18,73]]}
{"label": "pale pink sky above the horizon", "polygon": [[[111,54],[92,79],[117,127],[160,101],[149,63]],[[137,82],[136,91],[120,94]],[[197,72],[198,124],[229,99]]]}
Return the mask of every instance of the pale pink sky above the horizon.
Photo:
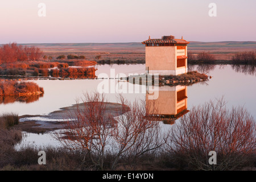
{"label": "pale pink sky above the horizon", "polygon": [[[210,3],[216,4],[216,16],[209,16]],[[256,41],[255,7],[255,0],[1,1],[0,44],[142,42],[149,35]]]}

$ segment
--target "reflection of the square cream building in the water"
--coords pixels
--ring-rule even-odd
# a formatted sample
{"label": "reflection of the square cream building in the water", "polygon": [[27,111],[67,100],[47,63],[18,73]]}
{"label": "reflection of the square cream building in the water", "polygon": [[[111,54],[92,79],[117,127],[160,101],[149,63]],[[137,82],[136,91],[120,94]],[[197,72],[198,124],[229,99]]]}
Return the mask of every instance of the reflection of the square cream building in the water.
{"label": "reflection of the square cream building in the water", "polygon": [[187,110],[187,86],[162,86],[158,90],[158,98],[150,100],[150,94],[146,94],[146,107],[148,114],[156,121],[172,124]]}

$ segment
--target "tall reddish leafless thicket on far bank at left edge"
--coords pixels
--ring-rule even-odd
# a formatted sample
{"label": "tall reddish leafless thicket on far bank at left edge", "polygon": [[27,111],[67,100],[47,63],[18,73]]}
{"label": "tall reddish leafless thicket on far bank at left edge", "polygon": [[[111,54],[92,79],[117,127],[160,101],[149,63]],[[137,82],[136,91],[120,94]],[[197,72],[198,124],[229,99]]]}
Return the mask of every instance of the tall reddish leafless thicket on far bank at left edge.
{"label": "tall reddish leafless thicket on far bank at left edge", "polygon": [[0,47],[0,64],[18,61],[35,61],[42,58],[43,51],[38,47],[18,46],[16,43],[4,44]]}

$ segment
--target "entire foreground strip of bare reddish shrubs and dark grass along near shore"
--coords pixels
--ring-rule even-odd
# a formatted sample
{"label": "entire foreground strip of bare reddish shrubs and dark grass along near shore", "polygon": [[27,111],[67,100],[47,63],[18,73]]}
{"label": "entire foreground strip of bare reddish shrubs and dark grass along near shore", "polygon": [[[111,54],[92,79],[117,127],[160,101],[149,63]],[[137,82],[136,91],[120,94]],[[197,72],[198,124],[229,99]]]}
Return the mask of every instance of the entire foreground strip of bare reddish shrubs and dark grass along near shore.
{"label": "entire foreground strip of bare reddish shrubs and dark grass along near shore", "polygon": [[[76,121],[66,123],[67,137],[60,138],[60,148],[23,147],[16,151],[14,146],[22,139],[21,132],[12,127],[17,117],[0,117],[10,123],[8,129],[0,129],[0,169],[255,170],[256,124],[243,107],[227,109],[222,99],[205,102],[192,107],[162,133],[160,122],[144,117],[148,107],[138,102],[130,105],[120,97],[125,114],[110,121],[102,105],[104,99],[85,96],[84,101],[90,102],[72,115]],[[46,165],[38,164],[40,150],[47,154]],[[216,151],[217,164],[208,163],[209,151]]]}

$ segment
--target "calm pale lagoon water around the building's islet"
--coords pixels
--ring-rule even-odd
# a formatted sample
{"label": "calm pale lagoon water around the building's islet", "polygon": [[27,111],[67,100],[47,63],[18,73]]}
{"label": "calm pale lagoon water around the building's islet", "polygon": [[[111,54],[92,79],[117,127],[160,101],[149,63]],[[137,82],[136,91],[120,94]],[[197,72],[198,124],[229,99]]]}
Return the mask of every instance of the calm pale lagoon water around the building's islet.
{"label": "calm pale lagoon water around the building's islet", "polygon": [[[118,77],[118,73],[128,76],[129,73],[144,73],[145,65],[97,65],[96,75],[101,77],[101,73],[105,73],[108,77]],[[110,70],[112,69],[112,72]],[[192,70],[199,70],[200,67],[193,67]],[[114,71],[114,74],[113,74]],[[192,106],[204,104],[206,101],[224,97],[227,106],[244,106],[256,118],[256,77],[255,75],[246,75],[245,73],[236,72],[230,65],[215,65],[212,69],[206,71],[207,75],[212,76],[209,81],[199,82],[191,86],[187,86],[187,105],[188,110]],[[110,80],[110,79],[109,79]],[[102,80],[37,80],[39,86],[44,88],[44,96],[38,101],[30,104],[14,102],[13,104],[1,104],[0,112],[15,112],[19,115],[24,114],[48,114],[52,111],[59,110],[61,107],[76,104],[76,100],[82,98],[85,92],[96,92],[98,85]],[[116,88],[120,88],[121,82],[113,79]],[[126,83],[127,93],[123,96],[133,102],[135,100],[145,100],[146,93],[129,93],[133,91],[134,85]],[[163,86],[163,89],[170,86]],[[108,93],[106,97],[110,102],[117,102],[118,93]],[[169,126],[168,126],[169,127]],[[32,146],[60,146],[57,140],[52,138],[51,133],[47,134],[29,134],[16,146],[32,145]]]}

